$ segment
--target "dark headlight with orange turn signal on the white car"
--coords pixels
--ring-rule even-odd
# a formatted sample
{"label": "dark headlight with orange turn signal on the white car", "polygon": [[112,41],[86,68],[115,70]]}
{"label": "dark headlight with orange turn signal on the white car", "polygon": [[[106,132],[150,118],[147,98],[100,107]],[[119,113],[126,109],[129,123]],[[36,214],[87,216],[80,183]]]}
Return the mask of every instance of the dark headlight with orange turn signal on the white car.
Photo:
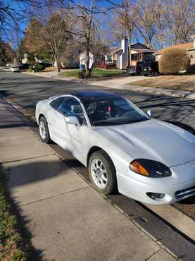
{"label": "dark headlight with orange turn signal on the white car", "polygon": [[142,176],[151,178],[165,178],[171,176],[171,171],[165,164],[151,159],[134,159],[130,169]]}

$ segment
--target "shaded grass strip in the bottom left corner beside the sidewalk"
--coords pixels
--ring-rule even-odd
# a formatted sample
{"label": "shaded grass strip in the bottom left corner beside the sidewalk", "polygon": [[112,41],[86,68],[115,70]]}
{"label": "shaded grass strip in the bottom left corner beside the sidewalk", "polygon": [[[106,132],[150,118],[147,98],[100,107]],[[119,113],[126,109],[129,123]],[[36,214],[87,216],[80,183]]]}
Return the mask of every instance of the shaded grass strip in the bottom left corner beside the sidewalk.
{"label": "shaded grass strip in the bottom left corner beside the sidewalk", "polygon": [[0,171],[0,260],[33,260],[31,243],[26,243],[21,236],[22,226],[15,215],[6,178]]}

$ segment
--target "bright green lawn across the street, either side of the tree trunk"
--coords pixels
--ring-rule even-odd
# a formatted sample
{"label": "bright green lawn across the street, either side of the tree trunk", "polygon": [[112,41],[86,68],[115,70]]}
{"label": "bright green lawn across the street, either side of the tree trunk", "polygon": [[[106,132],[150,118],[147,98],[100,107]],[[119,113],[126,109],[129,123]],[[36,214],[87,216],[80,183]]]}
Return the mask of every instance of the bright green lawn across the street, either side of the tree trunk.
{"label": "bright green lawn across the street, either side of the tree trunk", "polygon": [[[64,77],[76,77],[78,72],[80,72],[80,69],[64,71],[63,73],[60,73],[60,75]],[[101,68],[94,68],[92,72],[92,76],[101,77],[101,76],[109,76],[109,75],[121,75],[123,73],[124,71],[122,70],[103,70]]]}

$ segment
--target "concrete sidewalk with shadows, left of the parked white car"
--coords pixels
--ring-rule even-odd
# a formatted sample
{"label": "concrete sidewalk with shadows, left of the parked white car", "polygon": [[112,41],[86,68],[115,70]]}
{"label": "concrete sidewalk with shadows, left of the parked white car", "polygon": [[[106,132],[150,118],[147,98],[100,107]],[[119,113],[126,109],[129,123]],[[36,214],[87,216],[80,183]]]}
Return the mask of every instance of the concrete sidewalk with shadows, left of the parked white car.
{"label": "concrete sidewalk with shadows, left of the parked white car", "polygon": [[44,260],[175,260],[38,140],[0,99],[0,162]]}

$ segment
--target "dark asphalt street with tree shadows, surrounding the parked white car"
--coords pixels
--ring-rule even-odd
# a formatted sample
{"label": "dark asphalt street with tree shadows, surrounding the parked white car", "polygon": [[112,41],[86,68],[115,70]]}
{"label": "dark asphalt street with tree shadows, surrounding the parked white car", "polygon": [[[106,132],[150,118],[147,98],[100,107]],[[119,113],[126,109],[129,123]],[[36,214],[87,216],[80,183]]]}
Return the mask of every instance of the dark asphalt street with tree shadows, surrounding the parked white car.
{"label": "dark asphalt street with tree shadows, surrounding the parked white car", "polygon": [[[127,97],[138,107],[147,111],[153,109],[155,118],[170,121],[194,132],[195,129],[195,100],[155,96],[140,92],[107,89],[106,87],[90,86],[68,81],[53,80],[49,78],[38,78],[34,75],[23,73],[0,72],[0,93],[4,95],[13,105],[19,105],[25,109],[26,114],[33,115],[35,104],[46,97],[62,95],[75,90],[109,90]],[[37,128],[32,127],[35,133]],[[158,146],[158,145],[157,145]],[[63,160],[74,168],[81,176],[89,181],[87,169],[74,159],[68,152],[58,145],[52,144]],[[136,220],[141,226],[153,236],[161,240],[173,253],[182,257],[182,260],[194,260],[195,245],[189,238],[182,235],[174,227],[167,224],[161,217],[156,216],[139,202],[130,200],[117,192],[108,197],[111,202],[120,207],[127,215]],[[185,202],[174,205],[185,214],[195,219],[195,197]]]}

